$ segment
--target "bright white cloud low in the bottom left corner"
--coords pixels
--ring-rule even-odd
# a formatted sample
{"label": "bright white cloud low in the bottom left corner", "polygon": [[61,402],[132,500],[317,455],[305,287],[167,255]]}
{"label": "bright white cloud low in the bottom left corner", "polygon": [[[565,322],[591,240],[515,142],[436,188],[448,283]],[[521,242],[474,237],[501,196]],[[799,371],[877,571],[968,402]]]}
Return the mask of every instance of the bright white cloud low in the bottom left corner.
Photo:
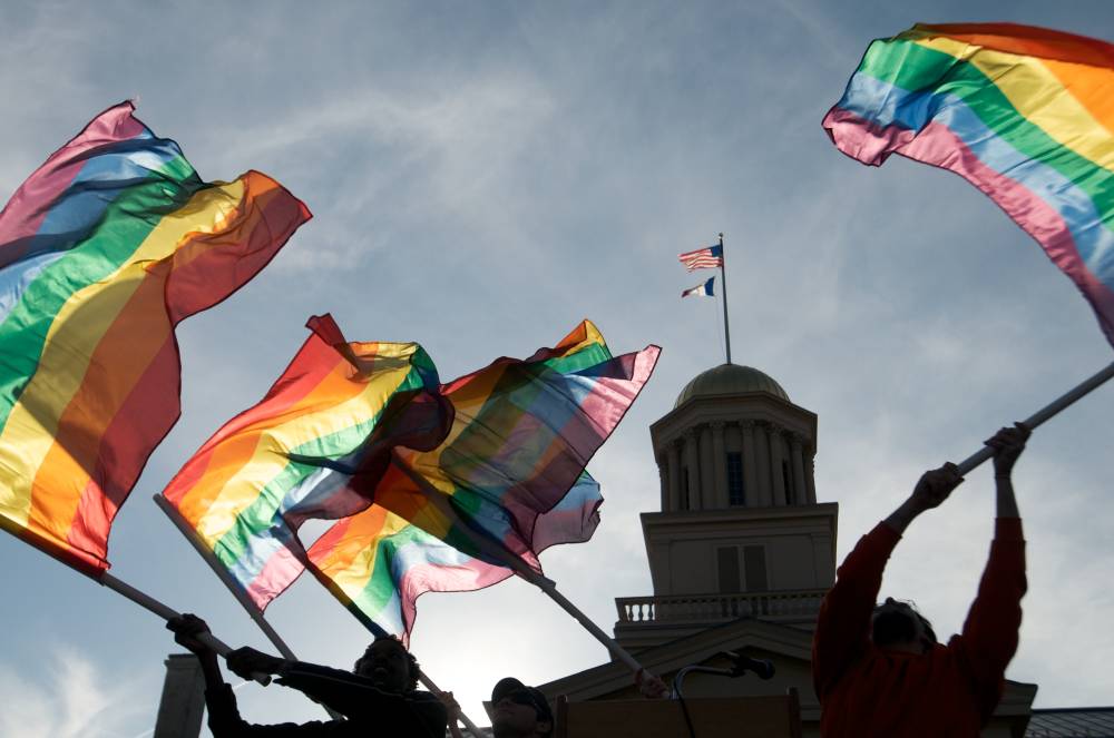
{"label": "bright white cloud low in the bottom left corner", "polygon": [[123,735],[149,706],[131,698],[136,682],[102,673],[85,655],[56,647],[36,680],[26,670],[0,663],[0,735],[6,738],[96,738]]}

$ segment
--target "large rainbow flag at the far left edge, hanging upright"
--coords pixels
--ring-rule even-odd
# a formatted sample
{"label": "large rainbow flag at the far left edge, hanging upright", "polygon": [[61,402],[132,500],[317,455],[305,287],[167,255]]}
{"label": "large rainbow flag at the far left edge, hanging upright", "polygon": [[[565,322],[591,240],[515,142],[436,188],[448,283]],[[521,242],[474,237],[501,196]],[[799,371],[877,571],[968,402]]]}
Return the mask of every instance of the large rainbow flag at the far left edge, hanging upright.
{"label": "large rainbow flag at the far left edge, hanging upright", "polygon": [[178,417],[174,327],[311,217],[257,171],[202,181],[133,110],[97,116],[0,213],[0,527],[91,575]]}

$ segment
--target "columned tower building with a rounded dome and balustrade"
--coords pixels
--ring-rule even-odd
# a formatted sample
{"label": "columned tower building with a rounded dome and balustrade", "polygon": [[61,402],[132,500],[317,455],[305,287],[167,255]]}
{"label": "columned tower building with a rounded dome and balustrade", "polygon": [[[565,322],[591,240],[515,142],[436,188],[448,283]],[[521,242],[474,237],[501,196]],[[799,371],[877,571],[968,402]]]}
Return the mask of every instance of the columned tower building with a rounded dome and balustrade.
{"label": "columned tower building with a rounded dome and balustrade", "polygon": [[[723,651],[769,659],[776,667],[769,681],[693,673],[685,696],[795,688],[803,735],[819,736],[812,630],[836,578],[839,504],[817,502],[817,415],[766,374],[723,364],[682,390],[651,437],[662,510],[643,513],[642,529],[654,593],[615,600],[615,638],[666,681],[687,665],[727,666]],[[637,697],[629,670],[616,662],[540,689],[570,701]],[[1025,736],[1036,691],[1007,681],[983,735]]]}

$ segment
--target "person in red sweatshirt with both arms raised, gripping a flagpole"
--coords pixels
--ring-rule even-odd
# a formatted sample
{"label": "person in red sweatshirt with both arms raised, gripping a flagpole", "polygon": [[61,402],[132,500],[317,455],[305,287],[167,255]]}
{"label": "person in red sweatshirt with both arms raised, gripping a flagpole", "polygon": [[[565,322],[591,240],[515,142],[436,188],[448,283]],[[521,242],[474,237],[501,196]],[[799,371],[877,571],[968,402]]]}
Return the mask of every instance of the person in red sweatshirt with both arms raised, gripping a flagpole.
{"label": "person in red sweatshirt with both arms raised, gripping a flagpole", "polygon": [[926,472],[909,499],[848,554],[820,607],[812,641],[824,738],[979,735],[1001,699],[1022,624],[1025,540],[1010,472],[1028,435],[1016,423],[986,442],[997,486],[995,535],[962,633],[947,646],[910,604],[876,601],[906,528],[962,482],[955,464]]}

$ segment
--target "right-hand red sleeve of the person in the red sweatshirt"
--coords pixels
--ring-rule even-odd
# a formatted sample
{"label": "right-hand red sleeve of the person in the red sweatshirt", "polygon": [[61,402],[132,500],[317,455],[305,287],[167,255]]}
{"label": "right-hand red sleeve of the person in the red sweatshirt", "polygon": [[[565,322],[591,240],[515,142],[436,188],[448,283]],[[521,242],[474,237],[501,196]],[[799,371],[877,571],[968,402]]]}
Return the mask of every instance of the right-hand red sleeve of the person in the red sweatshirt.
{"label": "right-hand red sleeve of the person in the red sweatshirt", "polygon": [[1006,666],[1017,650],[1025,589],[1022,521],[999,518],[978,596],[967,613],[962,636],[950,646],[961,651],[984,719],[989,718],[1001,699]]}

